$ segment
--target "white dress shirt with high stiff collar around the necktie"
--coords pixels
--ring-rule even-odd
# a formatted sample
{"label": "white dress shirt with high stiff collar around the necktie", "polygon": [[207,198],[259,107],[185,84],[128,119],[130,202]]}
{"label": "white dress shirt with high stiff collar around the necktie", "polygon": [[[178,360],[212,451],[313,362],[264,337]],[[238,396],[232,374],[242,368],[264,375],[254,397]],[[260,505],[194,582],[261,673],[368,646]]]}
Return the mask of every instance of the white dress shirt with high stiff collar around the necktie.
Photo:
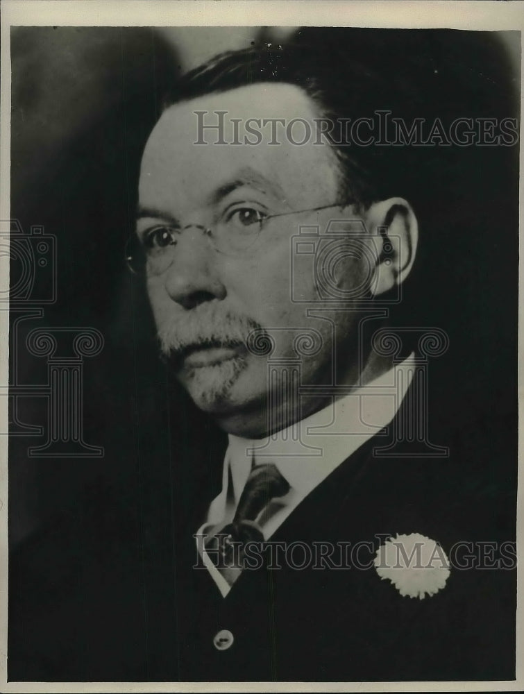
{"label": "white dress shirt with high stiff collar around the necktie", "polygon": [[[222,491],[214,498],[197,535],[212,535],[233,521],[253,464],[271,462],[289,483],[289,492],[273,499],[257,517],[268,540],[285,518],[337,466],[396,415],[414,375],[414,354],[387,373],[335,400],[302,421],[265,439],[229,435],[223,464]],[[226,597],[231,586],[196,540],[203,564]]]}

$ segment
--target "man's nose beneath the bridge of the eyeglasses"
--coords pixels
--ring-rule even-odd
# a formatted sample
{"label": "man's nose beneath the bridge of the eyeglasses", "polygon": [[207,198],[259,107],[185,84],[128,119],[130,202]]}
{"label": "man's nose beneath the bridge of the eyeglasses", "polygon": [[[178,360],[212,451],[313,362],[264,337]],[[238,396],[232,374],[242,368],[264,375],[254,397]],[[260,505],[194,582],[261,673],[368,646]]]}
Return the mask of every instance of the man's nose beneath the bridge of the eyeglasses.
{"label": "man's nose beneath the bridge of the eyeglasses", "polygon": [[173,301],[188,310],[205,301],[225,298],[226,287],[219,277],[215,251],[201,227],[187,228],[178,237],[165,287]]}

